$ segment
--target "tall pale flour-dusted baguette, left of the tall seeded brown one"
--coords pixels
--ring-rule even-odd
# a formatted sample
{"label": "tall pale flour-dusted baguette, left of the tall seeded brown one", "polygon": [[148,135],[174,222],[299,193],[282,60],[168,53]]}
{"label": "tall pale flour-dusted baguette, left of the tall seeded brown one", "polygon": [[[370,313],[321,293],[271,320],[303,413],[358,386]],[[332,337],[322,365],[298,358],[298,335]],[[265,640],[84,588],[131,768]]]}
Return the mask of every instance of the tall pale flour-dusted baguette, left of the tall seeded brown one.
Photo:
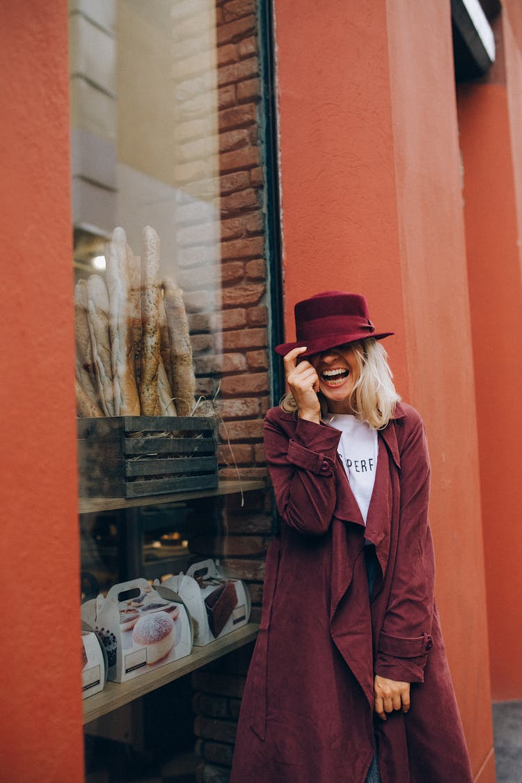
{"label": "tall pale flour-dusted baguette, left of the tall seeded brown one", "polygon": [[140,413],[134,371],[128,252],[131,251],[124,229],[114,229],[106,241],[105,257],[115,416],[139,416]]}

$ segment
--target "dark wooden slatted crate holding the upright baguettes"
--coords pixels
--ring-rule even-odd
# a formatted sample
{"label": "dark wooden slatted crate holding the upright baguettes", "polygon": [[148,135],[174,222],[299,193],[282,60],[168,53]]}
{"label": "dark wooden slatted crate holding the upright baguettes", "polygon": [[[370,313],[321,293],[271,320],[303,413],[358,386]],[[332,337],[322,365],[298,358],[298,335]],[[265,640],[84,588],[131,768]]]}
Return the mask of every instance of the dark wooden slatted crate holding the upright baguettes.
{"label": "dark wooden slatted crate holding the upright baguettes", "polygon": [[207,417],[78,419],[81,497],[142,497],[218,485],[214,424]]}

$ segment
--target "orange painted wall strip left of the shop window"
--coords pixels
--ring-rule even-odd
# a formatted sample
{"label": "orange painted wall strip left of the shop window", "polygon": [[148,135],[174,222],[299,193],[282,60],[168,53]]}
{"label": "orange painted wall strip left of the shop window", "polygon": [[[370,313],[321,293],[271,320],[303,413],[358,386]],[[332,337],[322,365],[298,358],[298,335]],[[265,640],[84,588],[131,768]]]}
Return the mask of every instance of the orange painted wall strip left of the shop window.
{"label": "orange painted wall strip left of the shop window", "polygon": [[2,780],[83,780],[67,2],[2,2]]}

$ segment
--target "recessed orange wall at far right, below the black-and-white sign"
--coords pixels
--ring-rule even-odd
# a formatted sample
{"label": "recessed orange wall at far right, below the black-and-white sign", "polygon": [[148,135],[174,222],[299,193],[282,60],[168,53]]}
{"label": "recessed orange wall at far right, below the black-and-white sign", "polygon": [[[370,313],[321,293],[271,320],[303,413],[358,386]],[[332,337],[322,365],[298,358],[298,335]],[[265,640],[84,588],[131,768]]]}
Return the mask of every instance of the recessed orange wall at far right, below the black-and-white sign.
{"label": "recessed orange wall at far right, below the black-and-white sign", "polygon": [[[502,27],[513,41],[506,15]],[[522,68],[517,47],[500,42],[499,56],[506,56],[500,78],[494,75],[484,84],[459,89],[491,686],[498,700],[522,698],[520,601],[516,592],[513,597],[513,577],[522,561],[516,446],[522,436],[522,356],[517,345],[522,334],[522,203],[520,172],[513,166],[522,160],[522,94],[509,90],[505,78],[520,88]]]}

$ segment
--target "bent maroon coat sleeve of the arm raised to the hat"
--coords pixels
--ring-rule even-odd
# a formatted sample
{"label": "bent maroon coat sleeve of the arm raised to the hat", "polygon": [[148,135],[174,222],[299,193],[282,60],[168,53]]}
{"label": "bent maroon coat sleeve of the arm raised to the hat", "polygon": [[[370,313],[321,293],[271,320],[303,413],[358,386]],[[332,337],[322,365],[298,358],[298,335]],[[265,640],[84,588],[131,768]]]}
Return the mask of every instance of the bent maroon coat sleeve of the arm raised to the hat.
{"label": "bent maroon coat sleeve of the arm raised to the hat", "polygon": [[265,453],[275,502],[287,525],[320,536],[329,528],[336,503],[333,464],[340,431],[302,419],[293,426],[294,432],[285,431],[268,411]]}

